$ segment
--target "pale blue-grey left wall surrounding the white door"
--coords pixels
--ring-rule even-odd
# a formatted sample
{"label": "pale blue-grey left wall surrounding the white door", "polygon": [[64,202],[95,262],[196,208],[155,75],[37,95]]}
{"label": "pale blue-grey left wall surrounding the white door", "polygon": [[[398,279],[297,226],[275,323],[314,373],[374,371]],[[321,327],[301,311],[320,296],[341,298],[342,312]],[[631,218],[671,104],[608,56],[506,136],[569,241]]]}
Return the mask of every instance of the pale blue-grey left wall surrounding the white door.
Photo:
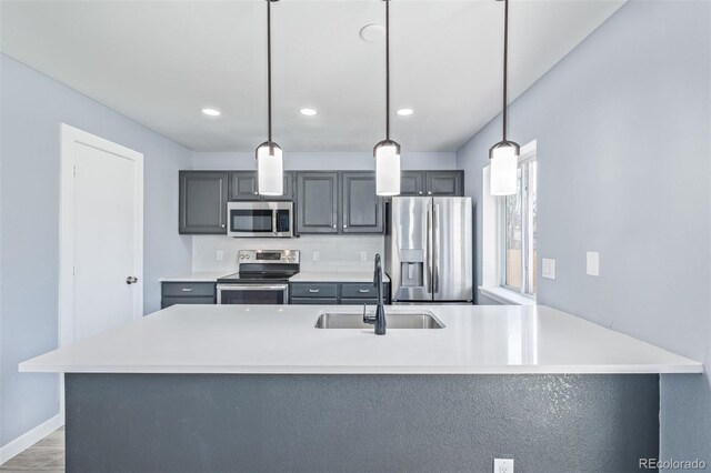
{"label": "pale blue-grey left wall surrounding the white door", "polygon": [[0,56],[0,445],[58,413],[52,374],[18,363],[58,342],[59,125],[144,154],[144,311],[160,308],[158,276],[184,272],[191,239],[178,235],[178,170],[191,152],[16,60]]}

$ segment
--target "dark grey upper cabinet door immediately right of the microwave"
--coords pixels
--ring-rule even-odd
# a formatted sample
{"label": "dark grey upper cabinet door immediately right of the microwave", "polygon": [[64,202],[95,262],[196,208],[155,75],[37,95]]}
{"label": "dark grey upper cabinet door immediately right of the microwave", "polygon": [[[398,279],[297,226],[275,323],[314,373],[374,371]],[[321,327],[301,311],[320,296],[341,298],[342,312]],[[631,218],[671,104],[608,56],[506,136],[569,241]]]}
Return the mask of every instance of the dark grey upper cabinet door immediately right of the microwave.
{"label": "dark grey upper cabinet door immediately right of the microwave", "polygon": [[339,233],[338,172],[297,174],[297,233]]}

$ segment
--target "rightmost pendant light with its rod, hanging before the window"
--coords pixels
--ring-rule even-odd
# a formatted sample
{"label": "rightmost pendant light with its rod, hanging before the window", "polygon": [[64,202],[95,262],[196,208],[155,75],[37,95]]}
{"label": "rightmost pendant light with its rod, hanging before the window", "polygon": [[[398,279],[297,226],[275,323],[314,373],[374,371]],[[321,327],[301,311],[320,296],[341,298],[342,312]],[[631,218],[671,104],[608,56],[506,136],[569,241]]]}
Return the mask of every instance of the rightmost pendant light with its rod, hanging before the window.
{"label": "rightmost pendant light with its rod, hanging before the window", "polygon": [[521,147],[507,139],[509,60],[509,0],[503,0],[503,139],[489,150],[491,161],[491,195],[513,195],[517,192]]}

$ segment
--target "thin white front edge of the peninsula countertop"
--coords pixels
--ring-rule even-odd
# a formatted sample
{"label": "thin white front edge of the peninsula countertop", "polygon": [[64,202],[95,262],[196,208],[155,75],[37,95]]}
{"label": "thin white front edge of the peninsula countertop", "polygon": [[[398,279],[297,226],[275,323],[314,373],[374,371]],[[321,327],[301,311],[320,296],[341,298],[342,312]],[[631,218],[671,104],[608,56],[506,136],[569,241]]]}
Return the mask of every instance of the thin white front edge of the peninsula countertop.
{"label": "thin white front edge of the peninsula countertop", "polygon": [[489,366],[191,366],[182,365],[147,365],[147,366],[91,366],[68,365],[24,365],[19,366],[24,373],[94,373],[94,374],[702,374],[702,363],[665,365],[665,364],[628,364],[628,365],[489,365]]}

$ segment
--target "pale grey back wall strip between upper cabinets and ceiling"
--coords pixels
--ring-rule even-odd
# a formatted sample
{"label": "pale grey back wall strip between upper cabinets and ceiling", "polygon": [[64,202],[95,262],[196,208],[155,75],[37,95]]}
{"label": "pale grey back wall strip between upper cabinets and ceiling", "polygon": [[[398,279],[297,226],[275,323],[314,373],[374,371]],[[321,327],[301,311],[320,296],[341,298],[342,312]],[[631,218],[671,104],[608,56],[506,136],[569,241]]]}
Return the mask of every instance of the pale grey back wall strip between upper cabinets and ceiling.
{"label": "pale grey back wall strip between upper cabinets and ceiling", "polygon": [[[254,153],[243,152],[194,152],[194,169],[253,169],[257,170]],[[356,152],[289,152],[284,151],[287,170],[360,170],[375,169],[373,153]],[[408,152],[402,154],[403,169],[457,169],[457,153],[453,152]],[[464,177],[467,179],[467,177]]]}

